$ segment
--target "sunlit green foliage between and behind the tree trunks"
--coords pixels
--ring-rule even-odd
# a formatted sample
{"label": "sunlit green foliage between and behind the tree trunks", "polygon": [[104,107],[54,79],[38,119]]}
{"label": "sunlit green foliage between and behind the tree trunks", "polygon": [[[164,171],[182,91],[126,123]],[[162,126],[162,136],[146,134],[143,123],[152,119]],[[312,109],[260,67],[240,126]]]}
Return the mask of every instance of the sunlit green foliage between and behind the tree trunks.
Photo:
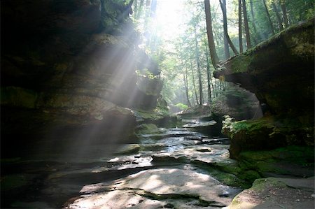
{"label": "sunlit green foliage between and behind the tree trunks", "polygon": [[[199,82],[196,64],[197,57],[200,59],[203,100],[207,101],[209,97],[209,93],[205,90],[208,88],[207,64],[211,66],[211,59],[209,59],[209,55],[207,57],[206,53],[208,43],[205,27],[204,3],[202,1],[186,1],[185,8],[183,10],[185,14],[180,13],[183,21],[185,22],[181,24],[181,27],[179,27],[178,36],[165,37],[162,36],[162,31],[160,31],[160,29],[164,28],[164,25],[156,24],[154,19],[155,17],[151,17],[150,15],[150,10],[154,8],[146,6],[146,1],[143,1],[142,5],[141,0],[134,0],[134,2],[137,2],[137,5],[134,4],[135,13],[132,17],[136,22],[139,32],[144,34],[142,37],[144,48],[146,48],[148,54],[153,57],[153,59],[158,63],[159,68],[162,70],[161,77],[164,82],[162,96],[165,98],[167,103],[170,105],[174,105],[176,103],[188,105],[189,99],[189,103],[194,106],[196,105],[197,100],[200,101],[200,98],[196,98],[196,95],[199,97]],[[250,2],[253,3],[253,15],[251,13]],[[276,19],[276,13],[272,8],[272,3],[276,4],[280,16],[283,19],[283,13],[280,4],[281,2],[285,3],[286,15],[288,15],[288,22],[290,25],[307,20],[309,17],[314,17],[314,1],[312,0],[267,0],[267,10],[271,16],[272,24],[275,30],[274,32],[278,32],[280,29],[277,22],[278,20]],[[181,5],[182,3],[179,3],[179,7]],[[158,2],[157,8],[159,8],[159,6],[160,4]],[[269,30],[269,21],[267,19],[267,14],[262,1],[247,0],[246,6],[251,40],[253,42],[252,44],[256,45],[272,36],[272,31]],[[227,9],[228,34],[232,43],[238,49],[238,1],[228,1]],[[216,51],[218,52],[218,57],[221,60],[224,60],[225,56],[222,26],[223,15],[221,13],[221,8],[218,4],[218,1],[211,1],[211,13]],[[167,22],[162,24],[167,24]],[[195,29],[197,48],[199,49],[198,52],[196,52],[195,48]],[[246,43],[245,36],[243,39],[243,43]],[[233,55],[232,50],[230,50],[230,54]],[[239,62],[237,62],[238,71],[247,71],[245,64],[251,62],[251,60],[248,60],[246,56],[238,57],[237,59],[239,59]],[[225,92],[224,82],[220,82],[219,80],[213,78],[213,70],[214,69],[210,69],[209,73],[211,80],[211,100]],[[152,77],[150,73],[144,73],[144,75],[150,78]],[[188,87],[188,99],[186,96],[185,85]],[[214,99],[214,101],[218,101],[218,99]]]}

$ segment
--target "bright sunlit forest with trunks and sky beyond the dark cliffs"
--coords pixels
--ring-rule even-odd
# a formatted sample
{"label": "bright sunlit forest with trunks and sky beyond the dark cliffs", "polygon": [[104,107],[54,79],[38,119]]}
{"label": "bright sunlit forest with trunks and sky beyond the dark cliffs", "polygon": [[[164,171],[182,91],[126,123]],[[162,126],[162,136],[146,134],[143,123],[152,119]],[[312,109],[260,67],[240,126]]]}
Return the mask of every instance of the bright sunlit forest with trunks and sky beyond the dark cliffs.
{"label": "bright sunlit forest with trunks and sky beyond the dark cliffs", "polygon": [[134,0],[131,17],[175,113],[220,99],[233,88],[212,75],[221,61],[314,17],[314,0]]}

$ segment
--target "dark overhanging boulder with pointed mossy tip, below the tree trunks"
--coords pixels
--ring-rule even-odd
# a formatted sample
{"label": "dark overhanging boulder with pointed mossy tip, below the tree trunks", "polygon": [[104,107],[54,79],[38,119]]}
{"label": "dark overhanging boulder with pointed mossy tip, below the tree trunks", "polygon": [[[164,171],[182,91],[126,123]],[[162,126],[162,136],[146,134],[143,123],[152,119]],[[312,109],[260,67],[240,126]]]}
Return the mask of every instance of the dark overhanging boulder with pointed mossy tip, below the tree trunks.
{"label": "dark overhanging boulder with pointed mossy tip, below the tree trunks", "polygon": [[314,19],[228,59],[214,75],[254,92],[272,114],[314,115]]}

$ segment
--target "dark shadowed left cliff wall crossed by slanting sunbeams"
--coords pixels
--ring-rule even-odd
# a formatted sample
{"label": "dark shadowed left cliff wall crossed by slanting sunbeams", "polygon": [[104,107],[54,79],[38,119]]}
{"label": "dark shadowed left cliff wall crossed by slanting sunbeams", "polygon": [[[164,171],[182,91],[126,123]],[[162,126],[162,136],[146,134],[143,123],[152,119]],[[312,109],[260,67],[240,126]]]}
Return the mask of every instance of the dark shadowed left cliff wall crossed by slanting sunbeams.
{"label": "dark shadowed left cliff wall crossed by slanting sunbeams", "polygon": [[125,1],[1,2],[2,147],[132,136],[132,109],[154,109],[162,82],[136,73],[159,71],[129,13]]}

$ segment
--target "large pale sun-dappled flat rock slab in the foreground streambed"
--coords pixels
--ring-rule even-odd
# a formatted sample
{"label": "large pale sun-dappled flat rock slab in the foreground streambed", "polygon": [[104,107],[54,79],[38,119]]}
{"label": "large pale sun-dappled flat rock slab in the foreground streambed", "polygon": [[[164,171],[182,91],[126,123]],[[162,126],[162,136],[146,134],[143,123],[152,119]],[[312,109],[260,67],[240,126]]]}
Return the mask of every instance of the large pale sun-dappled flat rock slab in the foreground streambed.
{"label": "large pale sun-dappled flat rock slab in the foreground streambed", "polygon": [[[93,194],[99,191],[103,192]],[[87,185],[82,192],[90,195],[81,196],[67,208],[224,207],[239,189],[221,185],[191,168],[159,168],[129,175],[111,185]]]}

